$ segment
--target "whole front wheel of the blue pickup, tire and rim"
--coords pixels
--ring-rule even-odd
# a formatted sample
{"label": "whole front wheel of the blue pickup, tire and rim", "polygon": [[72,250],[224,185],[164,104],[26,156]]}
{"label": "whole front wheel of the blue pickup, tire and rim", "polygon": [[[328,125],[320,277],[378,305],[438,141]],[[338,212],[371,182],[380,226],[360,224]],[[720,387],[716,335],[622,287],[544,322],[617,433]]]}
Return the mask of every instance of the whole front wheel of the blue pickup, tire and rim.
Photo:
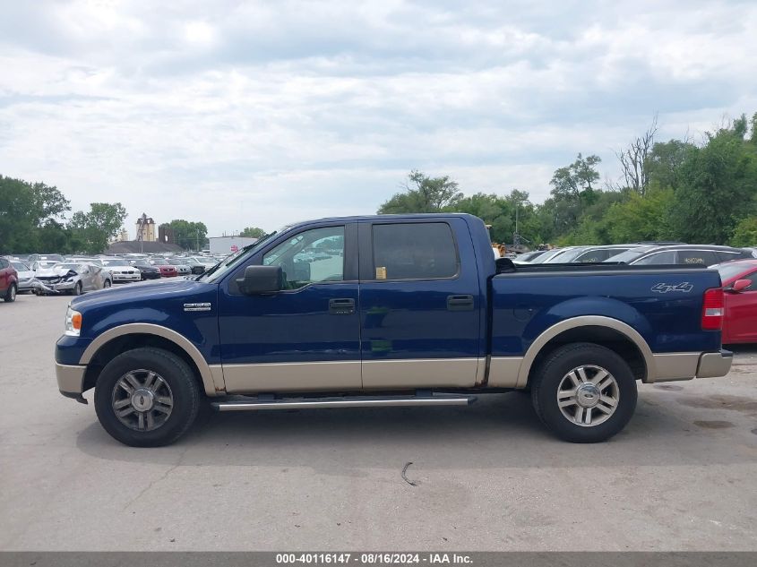
{"label": "whole front wheel of the blue pickup, tire and rim", "polygon": [[95,386],[100,425],[132,447],[175,442],[193,424],[200,387],[192,369],[159,348],[135,348],[103,368]]}

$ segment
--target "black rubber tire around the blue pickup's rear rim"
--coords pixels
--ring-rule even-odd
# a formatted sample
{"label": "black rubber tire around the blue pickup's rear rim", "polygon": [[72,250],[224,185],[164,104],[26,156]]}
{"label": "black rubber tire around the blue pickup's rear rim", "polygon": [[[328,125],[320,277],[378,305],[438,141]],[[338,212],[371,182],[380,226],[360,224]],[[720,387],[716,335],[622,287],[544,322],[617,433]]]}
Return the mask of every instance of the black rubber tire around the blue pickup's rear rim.
{"label": "black rubber tire around the blue pickup's rear rim", "polygon": [[[572,419],[563,415],[563,409],[558,404],[558,393],[572,389],[572,383],[563,381],[570,380],[568,374],[583,366],[588,367],[584,370],[584,374],[594,372],[596,373],[594,375],[598,376],[600,371],[604,370],[610,374],[610,378],[615,379],[615,384],[611,383],[607,387],[616,394],[615,409],[609,417],[606,417],[604,410],[591,408],[589,412],[589,409],[581,408],[577,403],[574,404],[575,408],[572,410],[574,412]],[[596,368],[600,370],[597,371]],[[573,374],[573,376],[578,377],[578,374]],[[555,349],[538,365],[531,380],[533,381],[531,401],[538,417],[553,434],[564,441],[581,443],[606,441],[624,428],[636,408],[638,395],[631,367],[614,351],[597,344],[572,343]],[[598,382],[604,382],[604,379]],[[561,390],[564,384],[568,384],[568,388]],[[578,391],[579,388],[575,390]],[[596,398],[594,393],[594,391],[589,391],[589,403],[593,403],[590,399]],[[599,399],[602,398],[603,396],[600,395]],[[610,407],[604,401],[599,403],[604,408]],[[571,408],[572,406],[568,406],[564,411],[571,413]],[[582,419],[585,419],[587,414],[598,416],[597,425],[579,425],[577,420],[580,411]]]}

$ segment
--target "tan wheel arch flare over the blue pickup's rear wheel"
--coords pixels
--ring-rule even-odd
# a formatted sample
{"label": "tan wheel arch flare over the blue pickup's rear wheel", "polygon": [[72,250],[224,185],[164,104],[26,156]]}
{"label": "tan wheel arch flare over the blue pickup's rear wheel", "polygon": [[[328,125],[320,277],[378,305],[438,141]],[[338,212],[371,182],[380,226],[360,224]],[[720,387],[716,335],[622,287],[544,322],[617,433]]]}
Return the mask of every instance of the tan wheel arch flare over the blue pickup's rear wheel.
{"label": "tan wheel arch flare over the blue pickup's rear wheel", "polygon": [[571,342],[592,342],[610,348],[631,365],[637,380],[654,381],[654,357],[639,331],[612,317],[585,315],[555,323],[531,343],[520,363],[515,387],[525,388],[538,362],[555,348]]}

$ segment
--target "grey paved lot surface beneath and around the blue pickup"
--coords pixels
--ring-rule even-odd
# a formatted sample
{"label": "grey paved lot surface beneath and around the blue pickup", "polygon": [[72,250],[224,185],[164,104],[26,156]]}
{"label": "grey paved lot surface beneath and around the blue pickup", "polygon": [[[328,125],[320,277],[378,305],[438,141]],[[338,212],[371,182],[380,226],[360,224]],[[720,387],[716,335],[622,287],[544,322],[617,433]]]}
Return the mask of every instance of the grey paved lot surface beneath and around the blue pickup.
{"label": "grey paved lot surface beneath and around the blue pickup", "polygon": [[757,349],[726,378],[641,386],[598,445],[555,441],[512,393],[209,412],[174,446],[133,449],[92,391],[57,391],[67,302],[0,302],[2,550],[757,550]]}

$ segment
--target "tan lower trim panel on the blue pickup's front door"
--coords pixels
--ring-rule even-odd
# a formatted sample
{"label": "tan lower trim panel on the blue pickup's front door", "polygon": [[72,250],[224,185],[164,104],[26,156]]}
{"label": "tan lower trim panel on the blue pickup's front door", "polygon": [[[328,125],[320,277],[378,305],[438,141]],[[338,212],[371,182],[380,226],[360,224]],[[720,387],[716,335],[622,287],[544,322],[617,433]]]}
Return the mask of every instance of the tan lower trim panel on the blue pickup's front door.
{"label": "tan lower trim panel on the blue pickup's front door", "polygon": [[360,361],[223,365],[228,393],[360,390]]}

